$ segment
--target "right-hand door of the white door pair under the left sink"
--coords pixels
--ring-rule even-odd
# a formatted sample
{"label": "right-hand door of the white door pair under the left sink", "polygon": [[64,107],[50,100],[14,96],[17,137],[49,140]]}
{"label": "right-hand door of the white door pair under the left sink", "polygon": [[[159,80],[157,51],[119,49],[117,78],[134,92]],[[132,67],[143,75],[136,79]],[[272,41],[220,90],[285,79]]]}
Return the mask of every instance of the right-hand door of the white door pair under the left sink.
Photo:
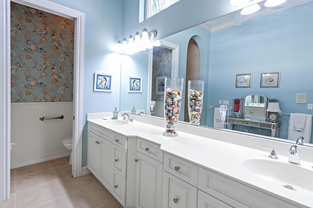
{"label": "right-hand door of the white door pair under the left sink", "polygon": [[100,175],[99,181],[112,192],[112,183],[113,183],[113,172],[111,169],[112,166],[112,143],[103,139],[101,142],[101,166],[100,166]]}

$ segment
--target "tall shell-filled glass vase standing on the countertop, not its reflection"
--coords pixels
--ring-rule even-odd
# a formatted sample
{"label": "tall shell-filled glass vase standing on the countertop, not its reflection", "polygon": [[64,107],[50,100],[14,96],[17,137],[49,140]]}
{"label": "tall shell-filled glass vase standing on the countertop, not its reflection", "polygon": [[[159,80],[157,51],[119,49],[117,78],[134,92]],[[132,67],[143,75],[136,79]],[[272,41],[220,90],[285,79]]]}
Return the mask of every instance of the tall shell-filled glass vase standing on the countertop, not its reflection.
{"label": "tall shell-filled glass vase standing on the countertop, not its reflection", "polygon": [[178,136],[176,124],[178,122],[183,78],[166,77],[164,92],[165,131],[164,136]]}

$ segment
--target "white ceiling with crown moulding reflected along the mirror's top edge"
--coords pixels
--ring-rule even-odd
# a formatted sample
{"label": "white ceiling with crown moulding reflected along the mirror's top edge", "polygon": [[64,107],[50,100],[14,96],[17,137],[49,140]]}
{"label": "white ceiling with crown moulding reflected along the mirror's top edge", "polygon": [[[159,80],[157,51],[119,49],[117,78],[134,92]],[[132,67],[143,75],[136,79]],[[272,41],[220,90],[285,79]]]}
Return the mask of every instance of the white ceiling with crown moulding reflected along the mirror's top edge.
{"label": "white ceiling with crown moulding reflected along the mirror's top edge", "polygon": [[264,6],[265,1],[261,1],[258,3],[261,6],[261,9],[254,14],[241,15],[240,14],[241,10],[238,10],[227,15],[224,15],[222,17],[219,17],[217,19],[207,21],[201,24],[200,26],[207,29],[210,32],[214,32],[233,25],[241,25],[242,22],[248,21],[250,19],[256,19],[309,1],[312,0],[287,0],[283,4],[275,7],[265,7]]}

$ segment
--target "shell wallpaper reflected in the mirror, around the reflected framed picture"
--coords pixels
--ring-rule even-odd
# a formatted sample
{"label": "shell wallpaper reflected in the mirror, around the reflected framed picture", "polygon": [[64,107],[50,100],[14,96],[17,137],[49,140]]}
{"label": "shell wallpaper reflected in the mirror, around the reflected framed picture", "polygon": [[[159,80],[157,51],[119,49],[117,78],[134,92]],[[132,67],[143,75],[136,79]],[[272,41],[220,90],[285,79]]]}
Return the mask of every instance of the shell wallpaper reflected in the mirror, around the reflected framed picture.
{"label": "shell wallpaper reflected in the mirror, around the reflected framed picture", "polygon": [[162,46],[153,47],[152,100],[163,101],[164,95],[156,95],[156,76],[172,76],[172,50]]}

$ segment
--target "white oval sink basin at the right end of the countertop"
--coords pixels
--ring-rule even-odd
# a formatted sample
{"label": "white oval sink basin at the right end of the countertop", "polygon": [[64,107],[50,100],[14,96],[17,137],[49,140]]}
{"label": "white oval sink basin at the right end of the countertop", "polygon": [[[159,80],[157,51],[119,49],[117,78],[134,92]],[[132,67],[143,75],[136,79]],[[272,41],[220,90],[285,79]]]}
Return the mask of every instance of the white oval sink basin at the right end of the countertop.
{"label": "white oval sink basin at the right end of the countertop", "polygon": [[300,165],[283,163],[275,160],[248,159],[243,166],[254,175],[281,184],[288,189],[306,189],[312,191],[313,169],[308,170]]}

